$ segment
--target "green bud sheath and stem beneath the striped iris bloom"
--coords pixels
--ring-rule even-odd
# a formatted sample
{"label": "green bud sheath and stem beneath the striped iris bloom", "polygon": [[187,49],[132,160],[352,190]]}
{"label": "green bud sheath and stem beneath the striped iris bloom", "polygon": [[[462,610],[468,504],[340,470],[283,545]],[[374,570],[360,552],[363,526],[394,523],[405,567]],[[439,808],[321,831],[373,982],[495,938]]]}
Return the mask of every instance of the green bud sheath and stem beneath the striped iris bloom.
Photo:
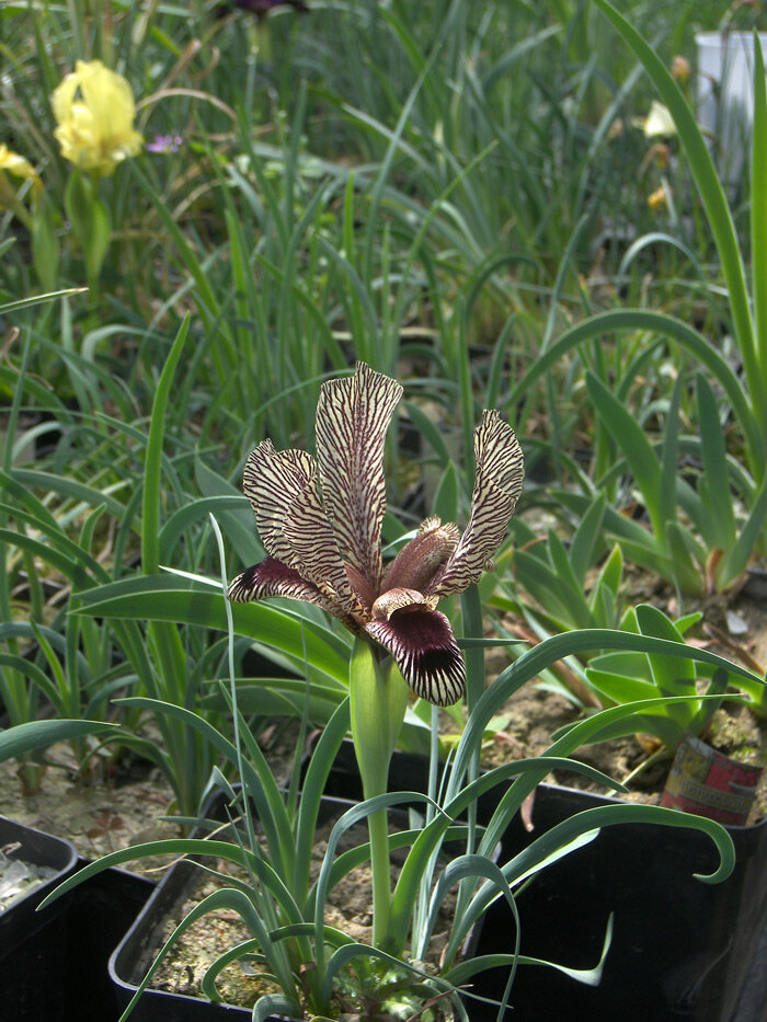
{"label": "green bud sheath and stem beneath the striped iris bloom", "polygon": [[[354,643],[350,663],[352,737],[365,799],[386,794],[389,762],[408,708],[408,685],[390,658],[379,663],[364,639]],[[373,874],[373,943],[388,950],[391,942],[391,865],[386,808],[367,817]]]}

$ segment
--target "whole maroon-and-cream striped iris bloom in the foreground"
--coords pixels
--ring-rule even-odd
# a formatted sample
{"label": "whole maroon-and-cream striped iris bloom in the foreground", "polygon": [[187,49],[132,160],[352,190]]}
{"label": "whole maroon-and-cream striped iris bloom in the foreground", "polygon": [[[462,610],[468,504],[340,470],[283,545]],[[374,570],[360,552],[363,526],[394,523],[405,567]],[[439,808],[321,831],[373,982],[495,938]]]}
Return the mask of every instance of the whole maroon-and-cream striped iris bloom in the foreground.
{"label": "whole maroon-and-cream striped iris bloom in the foreground", "polygon": [[477,476],[469,521],[427,518],[385,564],[384,444],[402,387],[357,363],[324,383],[317,406],[317,459],[263,440],[248,458],[243,491],[267,558],[229,585],[230,600],[288,597],[334,615],[393,657],[411,689],[439,707],[457,702],[466,667],[439,599],[490,566],[524,476],[514,430],[483,412],[474,433]]}

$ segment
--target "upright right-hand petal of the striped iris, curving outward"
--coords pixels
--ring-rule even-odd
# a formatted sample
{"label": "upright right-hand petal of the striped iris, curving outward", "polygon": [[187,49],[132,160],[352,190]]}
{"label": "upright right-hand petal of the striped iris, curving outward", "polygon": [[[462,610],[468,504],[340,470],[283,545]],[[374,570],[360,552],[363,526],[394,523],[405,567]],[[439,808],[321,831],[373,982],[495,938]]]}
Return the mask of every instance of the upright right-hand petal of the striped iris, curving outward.
{"label": "upright right-hand petal of the striped iris, curving outward", "polygon": [[474,430],[477,475],[469,524],[442,572],[424,593],[446,596],[477,582],[503,542],[525,478],[522,447],[496,411]]}

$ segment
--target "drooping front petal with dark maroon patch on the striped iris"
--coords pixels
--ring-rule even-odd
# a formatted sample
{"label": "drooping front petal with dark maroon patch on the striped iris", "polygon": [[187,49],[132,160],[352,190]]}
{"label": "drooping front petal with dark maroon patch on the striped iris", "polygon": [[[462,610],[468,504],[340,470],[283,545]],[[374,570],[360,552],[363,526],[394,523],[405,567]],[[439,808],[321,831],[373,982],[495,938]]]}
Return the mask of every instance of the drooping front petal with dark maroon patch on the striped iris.
{"label": "drooping front petal with dark maroon patch on the striped iris", "polygon": [[387,650],[416,696],[450,707],[463,694],[466,666],[450,622],[425,604],[411,604],[377,618],[366,631]]}

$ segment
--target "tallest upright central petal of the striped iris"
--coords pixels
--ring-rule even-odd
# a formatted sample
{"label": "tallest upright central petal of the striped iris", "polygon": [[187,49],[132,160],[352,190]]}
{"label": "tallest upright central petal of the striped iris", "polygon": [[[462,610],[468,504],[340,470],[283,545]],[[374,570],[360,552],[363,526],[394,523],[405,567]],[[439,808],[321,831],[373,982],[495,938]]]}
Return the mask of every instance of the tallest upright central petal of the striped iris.
{"label": "tallest upright central petal of the striped iris", "polygon": [[384,444],[402,387],[364,363],[353,377],[322,384],[317,459],[322,497],[342,556],[377,589],[386,512]]}

